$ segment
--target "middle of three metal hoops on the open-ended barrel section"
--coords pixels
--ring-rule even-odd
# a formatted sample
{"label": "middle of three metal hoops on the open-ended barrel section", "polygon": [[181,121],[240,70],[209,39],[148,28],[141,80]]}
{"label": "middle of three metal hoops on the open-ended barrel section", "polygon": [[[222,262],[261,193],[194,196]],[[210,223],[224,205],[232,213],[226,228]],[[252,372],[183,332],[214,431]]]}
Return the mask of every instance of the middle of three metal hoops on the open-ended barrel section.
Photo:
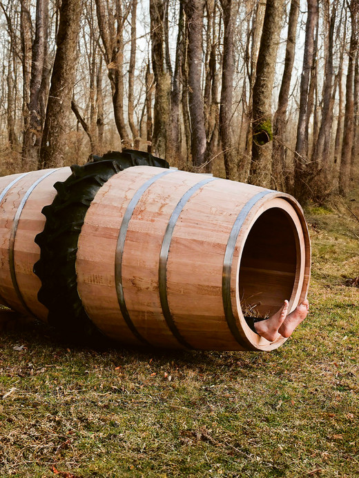
{"label": "middle of three metal hoops on the open-ended barrel section", "polygon": [[192,186],[188,189],[187,192],[184,193],[182,198],[178,201],[177,206],[172,212],[172,215],[168,221],[166,232],[164,233],[164,239],[162,241],[161,252],[159,254],[159,268],[158,268],[158,286],[159,286],[159,299],[161,301],[162,313],[164,318],[166,319],[166,323],[168,328],[170,328],[171,332],[173,333],[174,337],[181,343],[182,346],[186,348],[193,348],[182,335],[179,333],[175,321],[173,320],[173,316],[171,314],[171,310],[168,304],[168,297],[167,297],[167,260],[168,260],[168,252],[170,250],[171,241],[173,230],[175,229],[175,225],[181,214],[184,206],[186,206],[186,202],[190,199],[197,190],[202,188],[205,184],[210,183],[211,181],[215,181],[218,179],[217,177],[207,177],[203,179],[199,183]]}

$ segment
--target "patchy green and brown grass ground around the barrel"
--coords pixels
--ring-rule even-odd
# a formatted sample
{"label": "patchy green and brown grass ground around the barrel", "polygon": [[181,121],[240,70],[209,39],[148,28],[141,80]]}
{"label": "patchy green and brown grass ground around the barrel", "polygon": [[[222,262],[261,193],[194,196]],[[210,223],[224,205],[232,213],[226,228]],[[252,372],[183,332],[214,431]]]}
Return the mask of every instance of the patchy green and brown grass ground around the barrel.
{"label": "patchy green and brown grass ground around the barrel", "polygon": [[311,312],[274,352],[99,353],[39,324],[3,331],[0,476],[359,476],[359,289],[343,285],[359,222],[307,217]]}

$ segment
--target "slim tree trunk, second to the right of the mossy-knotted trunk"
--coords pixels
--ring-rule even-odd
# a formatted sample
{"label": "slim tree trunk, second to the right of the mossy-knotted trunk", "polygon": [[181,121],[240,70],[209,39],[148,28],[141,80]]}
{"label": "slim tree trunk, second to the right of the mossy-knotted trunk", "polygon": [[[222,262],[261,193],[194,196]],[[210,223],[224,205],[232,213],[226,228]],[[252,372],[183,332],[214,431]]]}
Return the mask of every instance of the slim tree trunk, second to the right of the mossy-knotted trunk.
{"label": "slim tree trunk, second to the right of the mossy-knotted trunk", "polygon": [[318,0],[307,0],[307,5],[308,15],[305,30],[302,76],[300,79],[299,117],[294,157],[294,190],[300,199],[303,199],[307,184],[306,165],[308,162],[308,126],[310,116],[308,108],[309,83],[315,56],[314,30],[318,21]]}

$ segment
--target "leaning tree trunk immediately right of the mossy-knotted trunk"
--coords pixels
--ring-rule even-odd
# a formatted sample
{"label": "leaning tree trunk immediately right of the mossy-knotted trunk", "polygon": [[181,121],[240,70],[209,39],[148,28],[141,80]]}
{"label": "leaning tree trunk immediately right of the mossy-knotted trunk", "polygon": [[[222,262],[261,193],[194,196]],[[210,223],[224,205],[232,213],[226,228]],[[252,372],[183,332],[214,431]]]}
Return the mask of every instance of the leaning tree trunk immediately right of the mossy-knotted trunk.
{"label": "leaning tree trunk immediately right of the mossy-knotted trunk", "polygon": [[299,15],[299,0],[291,1],[287,35],[287,50],[284,61],[284,71],[278,97],[278,108],[273,119],[273,151],[272,151],[272,187],[280,191],[288,190],[291,178],[287,172],[284,145],[287,128],[287,108],[291,75],[295,57],[295,38],[297,34]]}

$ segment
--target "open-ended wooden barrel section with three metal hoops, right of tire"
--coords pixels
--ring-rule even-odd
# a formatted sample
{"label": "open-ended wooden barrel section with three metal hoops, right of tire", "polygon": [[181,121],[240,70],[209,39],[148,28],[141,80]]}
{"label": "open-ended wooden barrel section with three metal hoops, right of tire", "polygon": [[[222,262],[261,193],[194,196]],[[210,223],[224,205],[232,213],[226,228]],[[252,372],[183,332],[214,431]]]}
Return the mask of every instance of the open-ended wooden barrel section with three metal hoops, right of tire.
{"label": "open-ended wooden barrel section with three metal hoops, right of tire", "polygon": [[97,192],[79,235],[79,296],[105,335],[135,345],[273,350],[247,316],[307,297],[311,248],[282,192],[151,166]]}

